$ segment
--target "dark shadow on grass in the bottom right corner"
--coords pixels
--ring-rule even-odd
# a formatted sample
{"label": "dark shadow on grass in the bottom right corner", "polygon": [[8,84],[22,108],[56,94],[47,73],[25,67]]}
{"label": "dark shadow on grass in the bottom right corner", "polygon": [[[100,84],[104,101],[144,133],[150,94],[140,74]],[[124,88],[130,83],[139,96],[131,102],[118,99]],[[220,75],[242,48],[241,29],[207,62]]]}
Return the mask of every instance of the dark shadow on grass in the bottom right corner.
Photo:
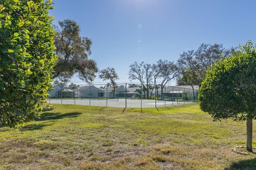
{"label": "dark shadow on grass in the bottom right corner", "polygon": [[256,158],[240,160],[225,168],[225,170],[254,170],[256,169]]}

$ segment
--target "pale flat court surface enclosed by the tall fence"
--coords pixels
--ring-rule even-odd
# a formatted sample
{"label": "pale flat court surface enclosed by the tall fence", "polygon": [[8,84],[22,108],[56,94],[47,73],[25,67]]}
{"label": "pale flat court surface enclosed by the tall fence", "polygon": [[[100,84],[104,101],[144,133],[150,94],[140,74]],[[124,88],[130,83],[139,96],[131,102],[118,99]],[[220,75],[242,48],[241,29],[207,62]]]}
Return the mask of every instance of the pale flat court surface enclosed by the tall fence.
{"label": "pale flat court surface enclosed by the tall fence", "polygon": [[[125,99],[47,99],[47,103],[51,104],[76,104],[91,106],[108,106],[108,107],[125,107]],[[193,101],[163,101],[163,100],[142,100],[142,107],[164,107],[172,105],[183,105],[193,103]],[[140,99],[127,99],[127,107],[141,107]]]}

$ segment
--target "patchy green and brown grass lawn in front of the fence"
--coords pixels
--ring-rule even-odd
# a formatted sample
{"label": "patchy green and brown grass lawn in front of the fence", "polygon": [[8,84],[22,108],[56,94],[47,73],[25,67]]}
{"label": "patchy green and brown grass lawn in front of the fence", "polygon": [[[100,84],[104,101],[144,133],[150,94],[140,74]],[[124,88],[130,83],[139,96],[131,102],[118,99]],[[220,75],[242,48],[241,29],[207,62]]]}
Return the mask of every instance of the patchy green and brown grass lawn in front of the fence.
{"label": "patchy green and brown grass lawn in front of the fence", "polygon": [[245,141],[245,122],[213,122],[197,104],[53,105],[19,130],[0,129],[0,169],[256,169],[255,154],[231,151]]}

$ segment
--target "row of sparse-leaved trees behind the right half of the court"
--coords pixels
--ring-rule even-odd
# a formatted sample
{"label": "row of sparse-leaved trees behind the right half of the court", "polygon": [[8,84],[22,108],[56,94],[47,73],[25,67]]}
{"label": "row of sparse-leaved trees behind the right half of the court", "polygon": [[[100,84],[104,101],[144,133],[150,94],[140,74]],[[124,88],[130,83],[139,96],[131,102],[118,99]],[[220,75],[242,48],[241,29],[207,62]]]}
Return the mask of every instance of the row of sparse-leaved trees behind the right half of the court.
{"label": "row of sparse-leaved trees behind the right half of the court", "polygon": [[[235,53],[234,48],[225,49],[222,44],[201,44],[197,50],[188,50],[180,54],[177,62],[159,60],[155,64],[134,62],[130,65],[129,79],[138,80],[144,90],[144,96],[149,98],[156,87],[163,93],[165,85],[177,80],[177,85],[188,85],[193,88],[205,79],[206,70],[214,62],[223,60]],[[160,83],[157,84],[157,82]],[[194,95],[195,99],[195,95]]]}

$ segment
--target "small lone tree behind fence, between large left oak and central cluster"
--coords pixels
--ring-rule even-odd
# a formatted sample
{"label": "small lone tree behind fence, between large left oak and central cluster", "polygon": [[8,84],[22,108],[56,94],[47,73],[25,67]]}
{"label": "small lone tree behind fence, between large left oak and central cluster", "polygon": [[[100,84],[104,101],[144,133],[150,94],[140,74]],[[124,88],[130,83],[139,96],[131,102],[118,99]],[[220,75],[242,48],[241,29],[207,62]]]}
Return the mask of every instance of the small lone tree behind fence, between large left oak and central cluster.
{"label": "small lone tree behind fence, between large left oak and central cluster", "polygon": [[107,67],[107,69],[103,69],[100,71],[99,78],[103,81],[109,80],[111,83],[111,86],[114,89],[114,98],[115,98],[115,92],[117,88],[116,80],[119,79],[116,71],[114,68]]}

